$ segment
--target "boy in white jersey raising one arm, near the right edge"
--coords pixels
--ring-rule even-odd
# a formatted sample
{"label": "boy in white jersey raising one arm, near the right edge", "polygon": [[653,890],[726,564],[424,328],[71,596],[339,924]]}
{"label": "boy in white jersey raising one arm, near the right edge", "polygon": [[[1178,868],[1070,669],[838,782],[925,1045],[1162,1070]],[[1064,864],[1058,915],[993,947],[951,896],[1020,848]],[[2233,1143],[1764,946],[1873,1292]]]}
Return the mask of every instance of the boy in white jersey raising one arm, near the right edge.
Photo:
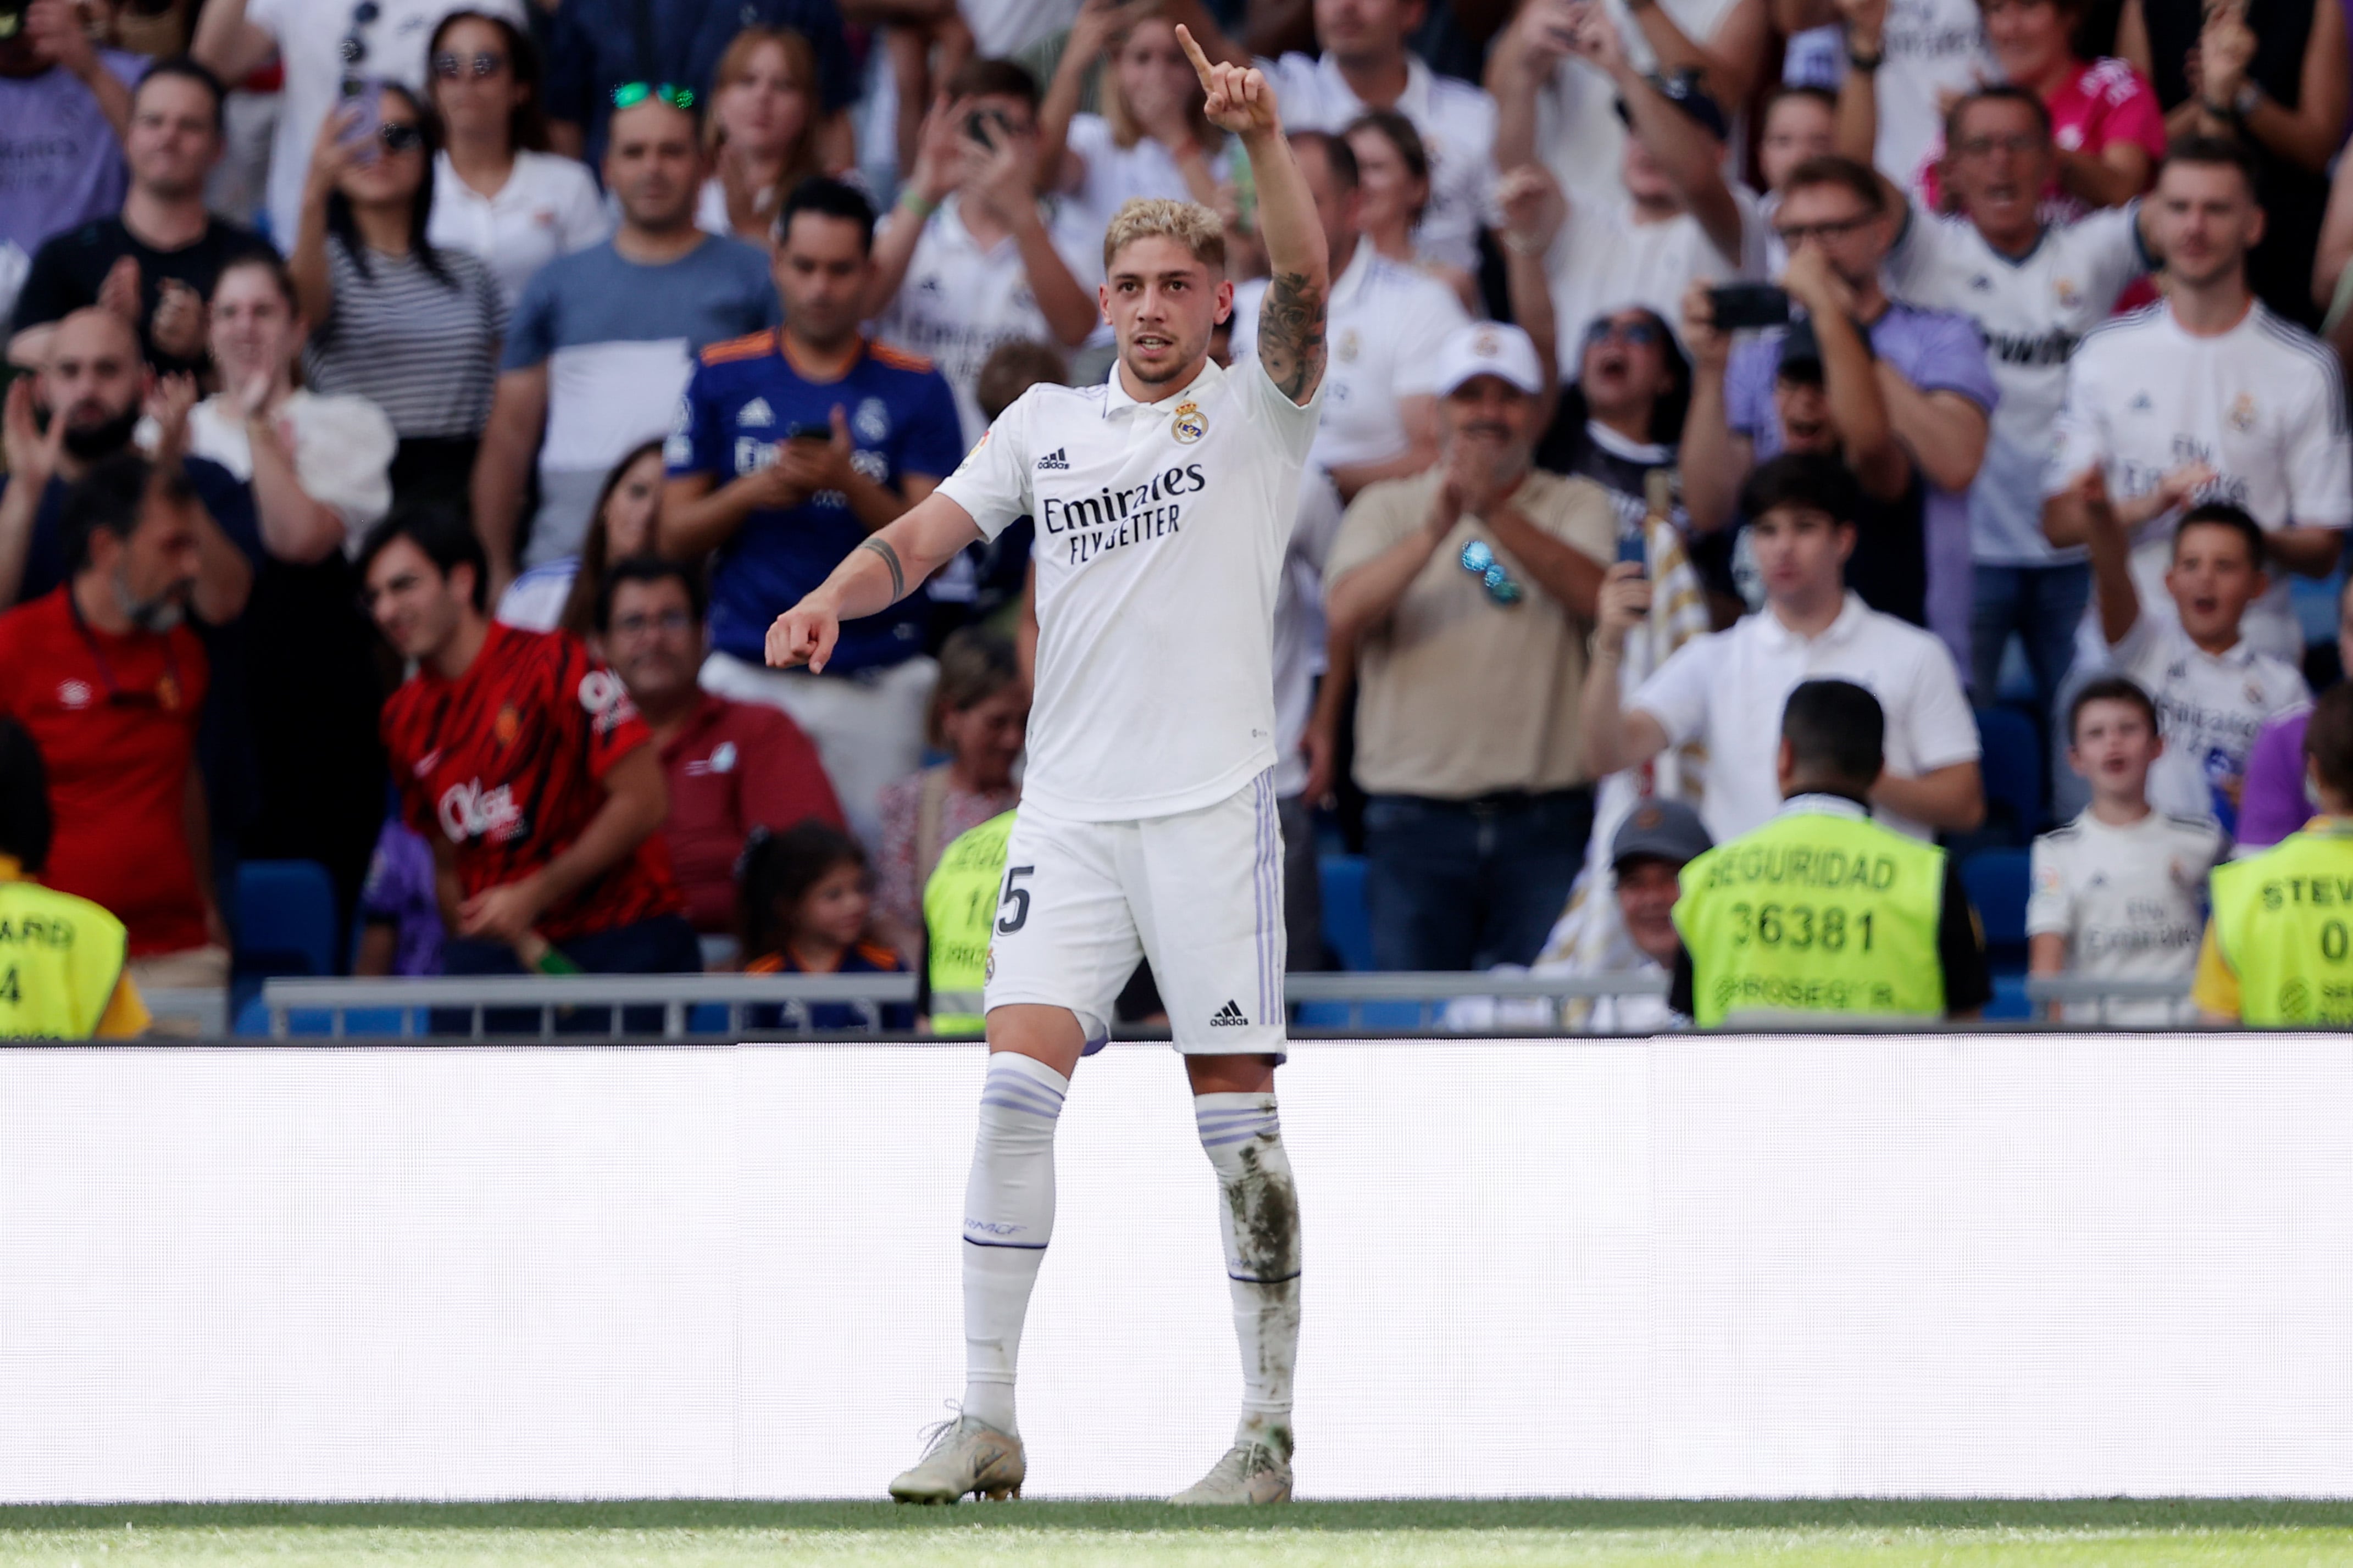
{"label": "boy in white jersey raising one arm, near the right edge", "polygon": [[[2195,489],[2200,475],[2167,475],[2153,491]],[[2247,755],[2266,724],[2311,701],[2304,675],[2259,654],[2240,635],[2247,607],[2271,585],[2264,529],[2245,510],[2207,501],[2181,515],[2165,590],[2174,614],[2141,607],[2132,581],[2127,520],[2108,501],[2099,468],[2075,482],[2092,545],[2099,630],[2115,670],[2148,691],[2158,708],[2165,755],[2148,778],[2148,802],[2172,816],[2238,823]],[[2134,505],[2134,503],[2127,503]],[[2139,505],[2151,505],[2141,498]]]}

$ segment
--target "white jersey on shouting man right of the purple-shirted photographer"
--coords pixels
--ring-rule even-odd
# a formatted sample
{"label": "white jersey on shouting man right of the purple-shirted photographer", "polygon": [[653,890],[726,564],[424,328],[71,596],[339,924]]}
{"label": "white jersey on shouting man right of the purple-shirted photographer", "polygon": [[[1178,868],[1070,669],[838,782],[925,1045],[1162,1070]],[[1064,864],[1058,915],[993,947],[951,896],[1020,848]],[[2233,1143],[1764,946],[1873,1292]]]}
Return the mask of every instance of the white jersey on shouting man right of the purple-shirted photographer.
{"label": "white jersey on shouting man right of the purple-shirted photographer", "polygon": [[1986,334],[1993,407],[1986,461],[1969,487],[1969,555],[1995,567],[2082,559],[2042,536],[2042,461],[2066,407],[2066,362],[2118,296],[2148,270],[2139,202],[2052,223],[2035,249],[2005,256],[1967,219],[1911,209],[1887,252],[1887,292],[1922,310],[1953,310]]}

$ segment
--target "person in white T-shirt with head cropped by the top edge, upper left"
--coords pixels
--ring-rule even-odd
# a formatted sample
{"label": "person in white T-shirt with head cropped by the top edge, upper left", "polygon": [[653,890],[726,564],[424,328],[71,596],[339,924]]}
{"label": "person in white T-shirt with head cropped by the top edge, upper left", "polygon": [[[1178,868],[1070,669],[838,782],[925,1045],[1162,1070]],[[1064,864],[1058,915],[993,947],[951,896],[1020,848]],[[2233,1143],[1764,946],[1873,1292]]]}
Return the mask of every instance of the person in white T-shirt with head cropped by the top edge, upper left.
{"label": "person in white T-shirt with head cropped by the top edge, upper left", "polygon": [[522,0],[207,0],[188,52],[224,82],[242,82],[275,52],[285,68],[271,139],[268,233],[294,247],[318,127],[344,82],[400,82],[424,101],[426,42],[449,12],[482,12],[527,28]]}

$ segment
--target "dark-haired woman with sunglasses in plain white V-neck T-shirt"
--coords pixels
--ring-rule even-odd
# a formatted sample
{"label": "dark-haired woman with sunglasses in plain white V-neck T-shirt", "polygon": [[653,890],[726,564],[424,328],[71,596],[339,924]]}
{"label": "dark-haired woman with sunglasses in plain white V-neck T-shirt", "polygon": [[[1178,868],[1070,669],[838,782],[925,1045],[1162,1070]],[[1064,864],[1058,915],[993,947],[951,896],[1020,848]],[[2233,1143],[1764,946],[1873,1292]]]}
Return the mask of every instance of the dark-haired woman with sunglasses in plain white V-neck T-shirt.
{"label": "dark-haired woman with sunglasses in plain white V-neck T-shirt", "polygon": [[426,240],[489,263],[508,308],[532,273],[612,233],[588,167],[548,150],[539,49],[506,16],[449,12],[426,49],[449,146],[433,158]]}

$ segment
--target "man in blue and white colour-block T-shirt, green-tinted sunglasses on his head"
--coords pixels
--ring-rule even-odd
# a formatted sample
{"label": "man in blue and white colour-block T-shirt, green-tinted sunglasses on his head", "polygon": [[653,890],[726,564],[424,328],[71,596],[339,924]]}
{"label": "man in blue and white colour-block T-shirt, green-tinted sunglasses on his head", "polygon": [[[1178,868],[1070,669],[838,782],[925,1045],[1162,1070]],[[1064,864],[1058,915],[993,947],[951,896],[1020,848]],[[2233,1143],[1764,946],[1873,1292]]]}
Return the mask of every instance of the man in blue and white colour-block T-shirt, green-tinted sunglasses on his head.
{"label": "man in blue and white colour-block T-shirt, green-tinted sunglasses on his head", "polygon": [[[605,188],[621,226],[539,268],[506,329],[473,468],[492,592],[520,567],[579,555],[614,456],[673,428],[694,357],[779,320],[767,256],[694,226],[704,183],[694,94],[626,82],[612,99]],[[534,461],[539,510],[525,529]]]}

